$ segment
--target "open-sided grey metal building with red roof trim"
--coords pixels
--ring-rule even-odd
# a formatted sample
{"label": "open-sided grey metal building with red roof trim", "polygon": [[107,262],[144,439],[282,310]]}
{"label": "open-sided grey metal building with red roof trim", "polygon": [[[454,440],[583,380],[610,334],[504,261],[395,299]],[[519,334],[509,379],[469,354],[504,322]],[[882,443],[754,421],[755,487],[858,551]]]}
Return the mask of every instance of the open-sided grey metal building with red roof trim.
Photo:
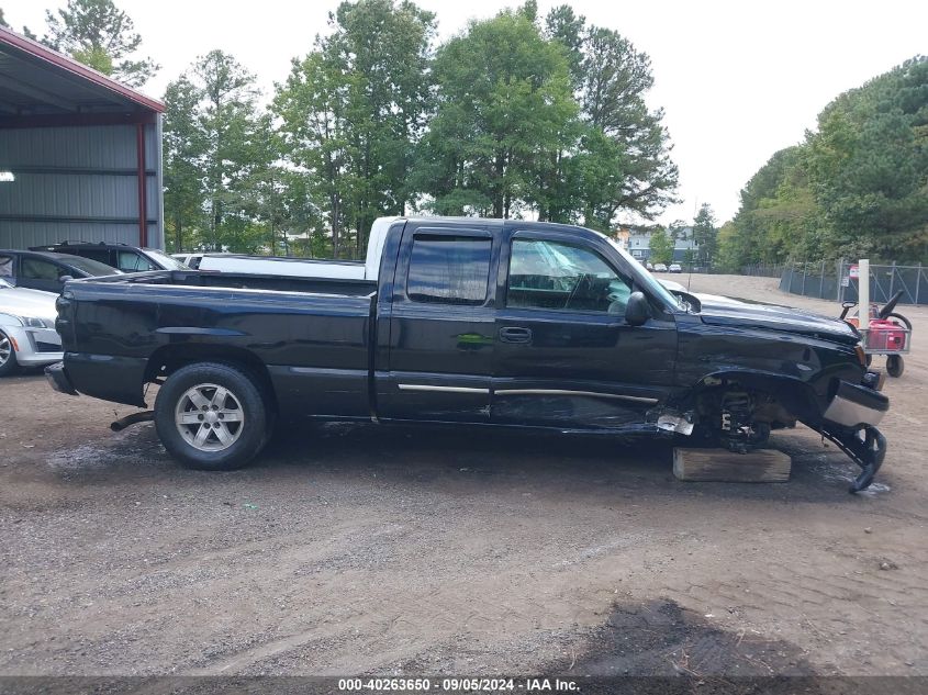
{"label": "open-sided grey metal building with red roof trim", "polygon": [[0,26],[0,248],[164,248],[164,111]]}

